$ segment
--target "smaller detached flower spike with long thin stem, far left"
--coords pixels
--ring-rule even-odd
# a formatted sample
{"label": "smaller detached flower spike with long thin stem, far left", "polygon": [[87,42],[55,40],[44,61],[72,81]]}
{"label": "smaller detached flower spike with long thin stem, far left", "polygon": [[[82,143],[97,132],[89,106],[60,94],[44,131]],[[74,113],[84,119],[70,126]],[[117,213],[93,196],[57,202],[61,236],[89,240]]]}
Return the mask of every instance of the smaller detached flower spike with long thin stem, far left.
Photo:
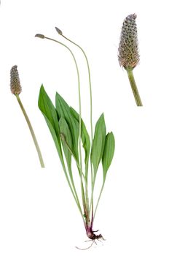
{"label": "smaller detached flower spike with long thin stem, far left", "polygon": [[10,89],[12,91],[12,94],[14,94],[15,97],[17,98],[17,102],[20,105],[20,109],[23,112],[23,116],[25,117],[25,121],[28,124],[28,128],[29,128],[29,130],[31,132],[31,136],[34,140],[34,145],[36,147],[36,151],[37,151],[37,154],[38,154],[38,157],[39,157],[39,162],[41,164],[41,167],[44,167],[44,160],[42,158],[42,153],[40,151],[39,144],[36,140],[34,129],[31,126],[31,121],[29,120],[28,115],[25,112],[25,108],[23,107],[23,103],[21,102],[21,99],[20,99],[20,96],[19,96],[20,92],[22,91],[22,88],[20,86],[20,78],[19,78],[19,74],[18,74],[18,71],[17,71],[17,65],[13,66],[11,71],[10,71]]}

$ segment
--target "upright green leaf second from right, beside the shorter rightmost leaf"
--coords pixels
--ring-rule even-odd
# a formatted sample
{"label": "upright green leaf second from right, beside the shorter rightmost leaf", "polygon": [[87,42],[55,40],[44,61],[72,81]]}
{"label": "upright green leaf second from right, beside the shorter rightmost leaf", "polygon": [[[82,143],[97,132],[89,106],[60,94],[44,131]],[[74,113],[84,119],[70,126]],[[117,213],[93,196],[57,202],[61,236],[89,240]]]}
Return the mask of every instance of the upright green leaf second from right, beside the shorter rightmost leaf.
{"label": "upright green leaf second from right, beside the shorter rightmost leaf", "polygon": [[93,148],[91,159],[93,162],[94,174],[96,175],[98,170],[98,165],[101,162],[103,156],[104,143],[106,139],[106,125],[104,121],[103,114],[98,118],[95,124],[95,135],[93,139]]}

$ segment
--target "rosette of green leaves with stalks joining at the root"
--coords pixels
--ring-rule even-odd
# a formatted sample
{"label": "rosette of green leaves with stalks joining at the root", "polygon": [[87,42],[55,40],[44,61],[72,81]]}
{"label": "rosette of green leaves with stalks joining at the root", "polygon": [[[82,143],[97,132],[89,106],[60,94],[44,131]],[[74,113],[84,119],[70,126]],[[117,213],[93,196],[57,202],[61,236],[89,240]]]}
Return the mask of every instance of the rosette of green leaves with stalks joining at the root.
{"label": "rosette of green leaves with stalks joining at the root", "polygon": [[[107,171],[111,165],[114,156],[114,135],[112,132],[106,134],[106,124],[103,114],[98,118],[95,125],[95,135],[93,139],[93,147],[91,148],[90,136],[87,132],[84,121],[82,121],[82,146],[84,148],[84,170],[79,167],[79,114],[71,108],[60,94],[55,95],[55,106],[52,104],[50,97],[41,86],[39,93],[39,109],[47,122],[50,133],[58,151],[63,171],[66,175],[68,185],[74,196],[76,204],[79,208],[80,214],[87,231],[87,236],[91,239],[97,238],[93,231],[93,220],[91,218],[91,209],[88,194],[88,181],[89,181],[89,161],[91,159],[93,165],[93,191],[95,186],[95,178],[98,173],[98,167],[102,162],[103,167],[103,185],[106,181]],[[63,157],[64,154],[64,157]],[[80,203],[79,195],[77,195],[76,187],[74,184],[74,175],[72,172],[72,158],[76,162],[79,178],[82,173],[82,203]],[[64,160],[66,159],[66,161]],[[90,178],[91,179],[91,178]],[[80,178],[81,181],[81,178]],[[86,187],[87,186],[87,187]],[[85,189],[87,188],[87,191]],[[97,205],[96,205],[97,207]],[[94,217],[93,217],[94,218]],[[98,235],[100,238],[101,235]]]}

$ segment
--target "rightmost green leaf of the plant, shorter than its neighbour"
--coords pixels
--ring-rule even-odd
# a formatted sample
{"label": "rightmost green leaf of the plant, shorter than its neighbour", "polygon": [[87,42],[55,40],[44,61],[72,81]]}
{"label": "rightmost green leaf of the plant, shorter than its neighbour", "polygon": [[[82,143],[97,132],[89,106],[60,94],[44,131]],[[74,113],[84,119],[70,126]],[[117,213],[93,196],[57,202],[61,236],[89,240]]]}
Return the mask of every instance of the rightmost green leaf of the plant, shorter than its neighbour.
{"label": "rightmost green leaf of the plant, shorter than its neighbour", "polygon": [[111,161],[114,156],[114,149],[115,149],[115,140],[113,132],[110,132],[106,135],[106,141],[103,151],[102,157],[102,165],[103,165],[103,180],[106,179],[107,171],[111,165]]}

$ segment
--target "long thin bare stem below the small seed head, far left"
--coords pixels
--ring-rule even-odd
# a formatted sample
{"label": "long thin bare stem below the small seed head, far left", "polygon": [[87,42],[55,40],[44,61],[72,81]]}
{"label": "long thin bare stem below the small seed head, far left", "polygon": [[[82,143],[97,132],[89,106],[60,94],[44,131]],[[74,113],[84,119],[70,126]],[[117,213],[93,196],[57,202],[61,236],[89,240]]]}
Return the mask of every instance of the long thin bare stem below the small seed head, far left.
{"label": "long thin bare stem below the small seed head, far left", "polygon": [[30,129],[32,138],[33,138],[33,140],[34,140],[34,145],[35,145],[36,151],[37,151],[37,153],[38,153],[39,162],[40,162],[40,164],[41,164],[41,167],[44,167],[44,161],[43,161],[43,158],[42,158],[42,153],[41,153],[41,150],[40,150],[40,148],[39,148],[39,144],[38,144],[38,142],[37,142],[37,140],[36,140],[36,136],[35,136],[35,133],[34,133],[34,129],[33,129],[33,127],[31,126],[31,121],[29,120],[28,115],[27,115],[27,113],[25,112],[25,108],[23,107],[23,103],[22,103],[21,100],[20,100],[19,94],[15,94],[15,96],[16,96],[16,98],[17,98],[17,102],[19,103],[21,110],[23,111],[23,116],[25,116],[25,121],[26,121],[27,124],[28,124],[28,128]]}

